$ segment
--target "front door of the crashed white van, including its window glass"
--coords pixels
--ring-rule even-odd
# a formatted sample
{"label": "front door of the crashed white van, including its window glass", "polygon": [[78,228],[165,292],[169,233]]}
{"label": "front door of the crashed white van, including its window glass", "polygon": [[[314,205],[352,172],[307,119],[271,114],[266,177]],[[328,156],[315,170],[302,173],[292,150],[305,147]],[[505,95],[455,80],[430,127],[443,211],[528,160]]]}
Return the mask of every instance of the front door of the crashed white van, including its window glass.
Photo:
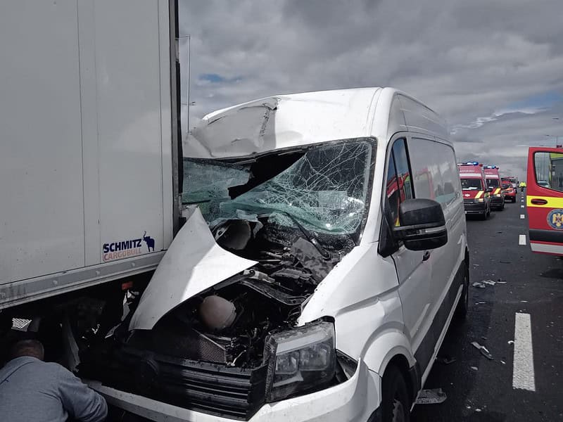
{"label": "front door of the crashed white van, including its window glass", "polygon": [[[389,226],[396,226],[399,205],[413,198],[413,189],[405,139],[396,139],[392,145],[387,158],[384,215]],[[389,240],[382,236],[381,243],[386,241]],[[431,264],[428,256],[424,251],[408,250],[402,243],[396,244],[391,253],[399,280],[406,334],[410,336],[413,352],[419,348],[429,326]]]}

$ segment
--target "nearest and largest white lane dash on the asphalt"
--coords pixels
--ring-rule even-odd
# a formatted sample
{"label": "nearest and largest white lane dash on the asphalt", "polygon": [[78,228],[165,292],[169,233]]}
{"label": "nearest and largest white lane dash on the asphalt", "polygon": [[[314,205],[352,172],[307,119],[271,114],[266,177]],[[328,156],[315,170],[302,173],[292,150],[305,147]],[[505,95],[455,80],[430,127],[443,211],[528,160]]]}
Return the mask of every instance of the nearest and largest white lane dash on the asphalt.
{"label": "nearest and largest white lane dash on the asphalt", "polygon": [[514,365],[512,388],[536,391],[530,314],[517,312],[514,319]]}

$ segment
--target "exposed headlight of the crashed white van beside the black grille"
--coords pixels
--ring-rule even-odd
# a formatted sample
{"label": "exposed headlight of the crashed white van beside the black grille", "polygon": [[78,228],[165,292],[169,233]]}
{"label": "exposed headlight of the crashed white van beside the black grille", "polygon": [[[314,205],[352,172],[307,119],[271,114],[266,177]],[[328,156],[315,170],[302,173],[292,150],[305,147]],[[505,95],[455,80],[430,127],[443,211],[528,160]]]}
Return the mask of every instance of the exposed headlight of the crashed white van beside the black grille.
{"label": "exposed headlight of the crashed white van beside the black grille", "polygon": [[311,392],[330,383],[336,371],[334,325],[310,324],[270,335],[265,345],[269,357],[268,402],[297,392]]}

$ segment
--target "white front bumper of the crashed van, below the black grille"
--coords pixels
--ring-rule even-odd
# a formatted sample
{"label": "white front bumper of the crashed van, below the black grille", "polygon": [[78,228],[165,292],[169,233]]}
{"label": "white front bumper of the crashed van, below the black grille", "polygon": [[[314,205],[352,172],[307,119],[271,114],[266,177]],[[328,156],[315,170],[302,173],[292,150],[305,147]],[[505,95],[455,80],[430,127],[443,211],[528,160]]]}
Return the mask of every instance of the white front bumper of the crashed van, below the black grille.
{"label": "white front bumper of the crashed van, below the black grille", "polygon": [[[233,422],[213,414],[184,409],[130,392],[116,390],[99,381],[83,380],[106,397],[109,404],[153,421]],[[264,404],[250,422],[342,422],[379,421],[381,378],[360,360],[347,381],[308,395]],[[186,398],[189,399],[189,398]]]}

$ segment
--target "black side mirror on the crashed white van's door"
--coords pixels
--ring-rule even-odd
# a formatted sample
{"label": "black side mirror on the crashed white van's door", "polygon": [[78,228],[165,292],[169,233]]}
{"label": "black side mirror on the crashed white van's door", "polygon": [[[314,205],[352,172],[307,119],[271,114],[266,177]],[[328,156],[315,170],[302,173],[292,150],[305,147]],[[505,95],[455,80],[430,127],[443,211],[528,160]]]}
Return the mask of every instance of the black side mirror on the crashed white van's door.
{"label": "black side mirror on the crashed white van's door", "polygon": [[393,234],[410,250],[436,249],[448,243],[442,207],[431,199],[407,199],[399,206],[400,226]]}

